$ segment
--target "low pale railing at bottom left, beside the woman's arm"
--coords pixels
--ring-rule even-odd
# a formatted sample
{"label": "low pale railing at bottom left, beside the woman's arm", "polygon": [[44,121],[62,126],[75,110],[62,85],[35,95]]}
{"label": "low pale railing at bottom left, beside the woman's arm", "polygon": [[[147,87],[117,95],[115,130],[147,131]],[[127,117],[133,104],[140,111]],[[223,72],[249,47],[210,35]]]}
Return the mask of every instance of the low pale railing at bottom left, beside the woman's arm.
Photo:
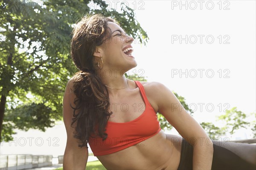
{"label": "low pale railing at bottom left, beside the woman's arm", "polygon": [[0,155],[0,170],[22,170],[51,165],[51,155]]}

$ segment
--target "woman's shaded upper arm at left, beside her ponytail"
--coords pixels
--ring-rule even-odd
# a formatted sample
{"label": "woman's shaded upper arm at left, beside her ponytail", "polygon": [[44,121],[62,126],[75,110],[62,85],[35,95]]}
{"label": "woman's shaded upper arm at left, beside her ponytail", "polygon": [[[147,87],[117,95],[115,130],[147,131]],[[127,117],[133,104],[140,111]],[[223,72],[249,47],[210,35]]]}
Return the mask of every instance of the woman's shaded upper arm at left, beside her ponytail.
{"label": "woman's shaded upper arm at left, beside her ponytail", "polygon": [[[76,126],[76,124],[73,124],[73,127],[71,127],[72,118],[73,118],[72,107],[75,107],[74,105],[75,98],[76,98],[76,95],[73,92],[73,79],[71,78],[70,81],[67,83],[67,87],[65,89],[64,97],[63,97],[63,121],[67,131],[67,144],[66,144],[64,155],[66,156],[72,155],[74,156],[73,158],[80,157],[84,161],[87,161],[88,149],[85,146],[84,147],[78,146],[80,140],[77,138],[74,138],[74,133],[75,133],[74,127]],[[72,105],[72,107],[70,107],[70,104]]]}

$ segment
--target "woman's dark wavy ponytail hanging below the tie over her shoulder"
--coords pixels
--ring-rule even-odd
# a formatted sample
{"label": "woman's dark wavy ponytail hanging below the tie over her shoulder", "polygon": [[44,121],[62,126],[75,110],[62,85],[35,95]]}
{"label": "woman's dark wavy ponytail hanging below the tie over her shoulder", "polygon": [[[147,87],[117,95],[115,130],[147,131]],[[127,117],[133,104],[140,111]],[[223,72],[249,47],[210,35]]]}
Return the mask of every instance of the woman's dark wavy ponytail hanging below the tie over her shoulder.
{"label": "woman's dark wavy ponytail hanging below the tie over her shoulder", "polygon": [[[84,72],[86,71],[86,72]],[[84,70],[74,75],[74,93],[76,95],[72,107],[73,118],[71,126],[76,122],[75,138],[79,138],[82,144],[79,147],[87,146],[88,138],[96,134],[105,140],[105,126],[112,112],[110,107],[108,89],[102,84],[99,76],[93,70]],[[75,113],[78,110],[78,113]],[[98,132],[95,127],[98,127]]]}

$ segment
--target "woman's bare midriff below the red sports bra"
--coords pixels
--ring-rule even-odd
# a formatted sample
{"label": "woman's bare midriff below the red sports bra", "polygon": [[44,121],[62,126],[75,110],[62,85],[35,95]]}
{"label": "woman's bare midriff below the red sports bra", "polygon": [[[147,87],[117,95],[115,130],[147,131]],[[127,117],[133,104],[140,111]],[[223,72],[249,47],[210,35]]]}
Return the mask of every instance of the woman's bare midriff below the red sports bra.
{"label": "woman's bare midriff below the red sports bra", "polygon": [[111,170],[177,170],[182,138],[163,130],[134,146],[116,153],[97,156]]}

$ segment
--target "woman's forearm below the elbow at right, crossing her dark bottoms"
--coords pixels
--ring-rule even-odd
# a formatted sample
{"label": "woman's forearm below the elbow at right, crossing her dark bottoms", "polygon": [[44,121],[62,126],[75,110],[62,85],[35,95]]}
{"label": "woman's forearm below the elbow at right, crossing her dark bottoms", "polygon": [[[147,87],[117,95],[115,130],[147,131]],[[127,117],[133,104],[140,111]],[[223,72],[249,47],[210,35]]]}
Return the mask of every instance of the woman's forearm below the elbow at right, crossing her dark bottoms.
{"label": "woman's forearm below the elbow at right, crossing her dark bottoms", "polygon": [[193,146],[193,170],[211,170],[213,158],[213,144],[208,140]]}

